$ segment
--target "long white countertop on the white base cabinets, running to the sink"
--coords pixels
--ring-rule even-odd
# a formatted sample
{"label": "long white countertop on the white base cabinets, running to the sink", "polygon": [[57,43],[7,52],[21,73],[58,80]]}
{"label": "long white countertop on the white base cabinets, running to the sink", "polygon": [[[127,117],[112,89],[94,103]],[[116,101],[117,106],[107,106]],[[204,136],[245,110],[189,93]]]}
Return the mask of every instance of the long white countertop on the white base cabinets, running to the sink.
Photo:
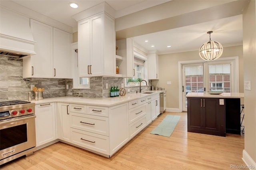
{"label": "long white countertop on the white base cabinets, running to the sink", "polygon": [[[145,93],[152,92],[152,93]],[[84,105],[98,105],[98,106],[114,106],[121,103],[125,103],[128,101],[132,101],[135,99],[140,99],[142,97],[156,95],[164,91],[145,91],[142,93],[132,93],[126,94],[124,96],[119,97],[107,97],[107,98],[85,98],[85,97],[52,97],[41,99],[38,101],[32,100],[31,103],[42,104],[42,103],[51,103],[51,102],[64,102],[64,103],[76,103],[76,104],[84,104]]]}

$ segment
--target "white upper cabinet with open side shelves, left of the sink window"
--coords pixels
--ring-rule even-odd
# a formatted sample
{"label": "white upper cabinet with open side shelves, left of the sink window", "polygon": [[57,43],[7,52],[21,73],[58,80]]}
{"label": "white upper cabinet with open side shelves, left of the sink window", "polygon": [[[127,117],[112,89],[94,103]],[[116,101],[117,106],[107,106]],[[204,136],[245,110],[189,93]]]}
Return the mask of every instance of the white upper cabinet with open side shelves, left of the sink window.
{"label": "white upper cabinet with open side shelves, left of the sink window", "polygon": [[120,77],[134,77],[134,50],[132,38],[118,40],[116,41],[116,46],[118,47],[116,64],[119,67]]}

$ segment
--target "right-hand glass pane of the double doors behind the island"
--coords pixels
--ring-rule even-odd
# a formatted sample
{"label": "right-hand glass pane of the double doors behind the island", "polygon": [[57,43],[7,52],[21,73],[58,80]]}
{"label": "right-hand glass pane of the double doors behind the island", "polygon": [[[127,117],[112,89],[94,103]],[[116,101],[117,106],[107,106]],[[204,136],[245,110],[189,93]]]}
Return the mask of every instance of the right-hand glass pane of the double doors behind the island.
{"label": "right-hand glass pane of the double doors behind the island", "polygon": [[230,93],[230,63],[209,64],[209,90]]}

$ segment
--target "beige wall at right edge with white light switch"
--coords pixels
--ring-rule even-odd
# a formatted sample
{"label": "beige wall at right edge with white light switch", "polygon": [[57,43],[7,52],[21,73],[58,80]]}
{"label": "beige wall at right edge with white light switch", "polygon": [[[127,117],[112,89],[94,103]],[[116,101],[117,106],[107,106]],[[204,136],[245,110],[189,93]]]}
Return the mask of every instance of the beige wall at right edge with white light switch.
{"label": "beige wall at right edge with white light switch", "polygon": [[[244,81],[251,81],[251,90],[244,90],[245,138],[243,158],[247,154],[256,166],[256,2],[251,0],[243,12]],[[248,160],[247,160],[248,161]],[[248,162],[249,163],[249,162]],[[256,169],[256,167],[255,167]]]}

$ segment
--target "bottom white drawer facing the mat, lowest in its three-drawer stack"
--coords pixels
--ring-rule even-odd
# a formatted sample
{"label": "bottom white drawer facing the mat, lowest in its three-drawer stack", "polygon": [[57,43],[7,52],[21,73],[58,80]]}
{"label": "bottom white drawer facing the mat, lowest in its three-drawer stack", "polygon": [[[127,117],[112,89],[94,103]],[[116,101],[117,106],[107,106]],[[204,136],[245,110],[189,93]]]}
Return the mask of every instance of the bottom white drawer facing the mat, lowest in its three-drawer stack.
{"label": "bottom white drawer facing the mat, lowest in its three-drawer stack", "polygon": [[133,138],[146,126],[146,115],[129,125],[129,135]]}

